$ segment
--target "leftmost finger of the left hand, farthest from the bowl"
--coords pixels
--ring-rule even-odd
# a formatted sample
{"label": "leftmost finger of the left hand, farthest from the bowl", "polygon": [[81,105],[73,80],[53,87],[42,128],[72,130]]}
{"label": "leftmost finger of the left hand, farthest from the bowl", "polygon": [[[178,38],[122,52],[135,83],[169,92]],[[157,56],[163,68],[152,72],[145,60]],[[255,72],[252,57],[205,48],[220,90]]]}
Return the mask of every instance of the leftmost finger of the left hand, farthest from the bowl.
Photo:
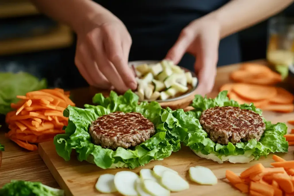
{"label": "leftmost finger of the left hand, farthest from the bowl", "polygon": [[98,69],[98,66],[96,65],[95,61],[93,61],[93,58],[91,58],[90,51],[88,50],[85,42],[81,42],[80,44],[78,44],[76,49],[76,56],[78,58],[77,61],[80,61],[76,64],[82,65],[82,67],[79,66],[78,69],[79,71],[81,70],[81,74],[83,72],[83,74],[86,75],[87,78],[91,78],[91,83],[89,83],[91,86],[102,89],[108,89],[111,87],[111,84]]}

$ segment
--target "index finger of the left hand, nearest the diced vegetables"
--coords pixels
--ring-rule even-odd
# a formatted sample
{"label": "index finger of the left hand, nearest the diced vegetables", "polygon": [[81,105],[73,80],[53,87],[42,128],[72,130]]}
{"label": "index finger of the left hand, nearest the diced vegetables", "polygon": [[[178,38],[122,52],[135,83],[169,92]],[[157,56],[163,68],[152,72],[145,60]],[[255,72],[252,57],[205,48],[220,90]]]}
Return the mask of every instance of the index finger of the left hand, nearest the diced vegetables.
{"label": "index finger of the left hand, nearest the diced vegetables", "polygon": [[103,33],[103,35],[105,35],[103,41],[107,57],[116,68],[124,84],[131,89],[136,89],[137,83],[135,76],[133,75],[131,68],[128,66],[128,58],[126,58],[126,53],[129,53],[131,43],[122,41],[123,38],[121,38],[119,32],[113,31],[113,29],[110,28],[111,27],[108,26],[103,28],[103,31],[105,31]]}

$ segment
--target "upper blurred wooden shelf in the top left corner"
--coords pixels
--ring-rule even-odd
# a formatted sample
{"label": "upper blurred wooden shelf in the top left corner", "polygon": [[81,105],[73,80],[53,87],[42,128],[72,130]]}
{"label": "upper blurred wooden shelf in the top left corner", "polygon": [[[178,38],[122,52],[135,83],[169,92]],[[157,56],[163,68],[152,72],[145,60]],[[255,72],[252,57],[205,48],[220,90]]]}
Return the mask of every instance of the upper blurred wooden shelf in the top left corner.
{"label": "upper blurred wooden shelf in the top left corner", "polygon": [[39,14],[30,1],[0,1],[0,18]]}

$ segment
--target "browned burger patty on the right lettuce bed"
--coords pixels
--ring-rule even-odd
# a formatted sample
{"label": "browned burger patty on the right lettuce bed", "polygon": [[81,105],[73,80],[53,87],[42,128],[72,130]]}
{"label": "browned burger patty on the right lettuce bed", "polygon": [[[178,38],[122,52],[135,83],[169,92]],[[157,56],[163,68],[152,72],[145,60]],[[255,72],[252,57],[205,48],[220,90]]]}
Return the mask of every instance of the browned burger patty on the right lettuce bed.
{"label": "browned burger patty on the right lettuce bed", "polygon": [[265,130],[265,123],[259,114],[232,106],[204,110],[200,124],[211,140],[222,145],[254,138],[258,141]]}

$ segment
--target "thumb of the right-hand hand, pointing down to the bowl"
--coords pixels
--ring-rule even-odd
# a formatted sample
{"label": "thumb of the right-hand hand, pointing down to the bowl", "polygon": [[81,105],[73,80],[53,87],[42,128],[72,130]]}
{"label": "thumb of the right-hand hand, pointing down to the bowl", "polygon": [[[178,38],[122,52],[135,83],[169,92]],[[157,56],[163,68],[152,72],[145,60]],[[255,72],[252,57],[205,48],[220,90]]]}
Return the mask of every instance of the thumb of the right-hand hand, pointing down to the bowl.
{"label": "thumb of the right-hand hand, pointing down to the bowl", "polygon": [[193,31],[183,29],[178,40],[173,47],[168,51],[165,59],[173,61],[174,64],[178,64],[186,53],[188,47],[193,41]]}

